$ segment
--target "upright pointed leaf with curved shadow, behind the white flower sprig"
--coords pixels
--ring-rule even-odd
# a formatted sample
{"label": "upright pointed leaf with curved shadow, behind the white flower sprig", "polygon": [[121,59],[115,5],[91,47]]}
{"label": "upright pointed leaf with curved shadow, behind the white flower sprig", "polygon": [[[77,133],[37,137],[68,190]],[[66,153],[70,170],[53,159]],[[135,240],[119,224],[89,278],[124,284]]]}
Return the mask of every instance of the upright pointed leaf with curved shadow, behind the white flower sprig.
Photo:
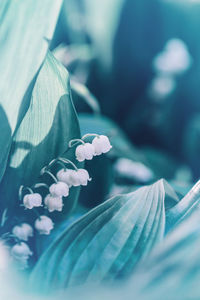
{"label": "upright pointed leaf with curved shadow, behind the white flower sprig", "polygon": [[[13,138],[0,185],[1,206],[13,209],[20,185],[32,186],[39,180],[41,168],[63,155],[68,142],[79,135],[68,72],[49,52],[36,79],[30,106]],[[64,156],[74,158],[73,152]],[[69,203],[66,201],[66,207]]]}

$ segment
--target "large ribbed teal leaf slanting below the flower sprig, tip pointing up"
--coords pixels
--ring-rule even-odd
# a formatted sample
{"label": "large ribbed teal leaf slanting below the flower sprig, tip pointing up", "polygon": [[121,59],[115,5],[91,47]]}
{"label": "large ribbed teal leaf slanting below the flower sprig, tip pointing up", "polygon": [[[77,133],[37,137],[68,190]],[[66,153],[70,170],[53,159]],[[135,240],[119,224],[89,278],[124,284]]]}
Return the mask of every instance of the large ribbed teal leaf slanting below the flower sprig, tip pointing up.
{"label": "large ribbed teal leaf slanting below the flower sprig, tip pointing up", "polygon": [[160,180],[99,205],[45,251],[32,286],[48,291],[126,276],[163,239],[164,200]]}

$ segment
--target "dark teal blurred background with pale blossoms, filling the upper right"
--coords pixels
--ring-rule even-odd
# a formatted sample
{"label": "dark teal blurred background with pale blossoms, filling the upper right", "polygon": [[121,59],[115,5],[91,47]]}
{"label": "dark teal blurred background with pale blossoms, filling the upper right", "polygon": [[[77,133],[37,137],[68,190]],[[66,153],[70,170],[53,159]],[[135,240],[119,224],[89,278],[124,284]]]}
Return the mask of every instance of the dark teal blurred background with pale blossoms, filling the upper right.
{"label": "dark teal blurred background with pale blossoms, filling the upper right", "polygon": [[[134,145],[170,155],[194,179],[200,173],[199,14],[200,2],[192,0],[68,0],[51,44]],[[76,98],[77,111],[89,112]]]}

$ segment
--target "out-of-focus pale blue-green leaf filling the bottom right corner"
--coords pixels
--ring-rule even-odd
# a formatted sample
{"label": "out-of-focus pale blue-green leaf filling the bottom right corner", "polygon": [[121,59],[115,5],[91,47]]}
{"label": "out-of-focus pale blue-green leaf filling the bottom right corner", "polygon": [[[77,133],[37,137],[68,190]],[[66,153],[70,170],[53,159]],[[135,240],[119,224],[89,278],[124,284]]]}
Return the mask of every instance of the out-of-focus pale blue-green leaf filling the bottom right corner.
{"label": "out-of-focus pale blue-green leaf filling the bottom right corner", "polygon": [[[200,214],[170,232],[148,258],[138,264],[124,299],[133,291],[135,299],[199,299]],[[144,298],[143,298],[144,297]]]}

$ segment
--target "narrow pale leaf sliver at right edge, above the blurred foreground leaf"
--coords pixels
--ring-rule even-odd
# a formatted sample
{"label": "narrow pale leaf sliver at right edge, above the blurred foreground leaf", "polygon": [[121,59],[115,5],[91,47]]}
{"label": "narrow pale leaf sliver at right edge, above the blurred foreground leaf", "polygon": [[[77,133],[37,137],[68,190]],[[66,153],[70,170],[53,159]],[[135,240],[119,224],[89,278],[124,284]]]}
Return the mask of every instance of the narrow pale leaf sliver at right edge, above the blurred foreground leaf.
{"label": "narrow pale leaf sliver at right edge, above the blurred foreground leaf", "polygon": [[200,180],[183,197],[178,204],[166,213],[166,231],[188,218],[194,211],[200,209]]}

